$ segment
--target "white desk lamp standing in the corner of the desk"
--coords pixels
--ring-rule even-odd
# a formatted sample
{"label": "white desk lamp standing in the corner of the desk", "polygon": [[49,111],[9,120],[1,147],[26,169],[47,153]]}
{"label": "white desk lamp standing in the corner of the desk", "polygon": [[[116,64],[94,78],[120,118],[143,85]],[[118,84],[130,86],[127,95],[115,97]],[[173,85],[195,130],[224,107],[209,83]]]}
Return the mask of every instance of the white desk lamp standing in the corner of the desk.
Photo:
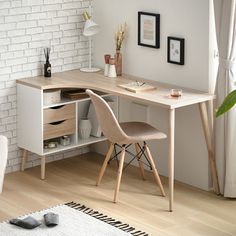
{"label": "white desk lamp standing in the corner of the desk", "polygon": [[89,38],[89,67],[81,68],[82,72],[97,72],[99,68],[92,67],[92,36],[100,31],[100,27],[94,21],[91,20],[91,1],[89,3],[89,14],[87,11],[83,13],[85,19],[85,25],[83,35]]}

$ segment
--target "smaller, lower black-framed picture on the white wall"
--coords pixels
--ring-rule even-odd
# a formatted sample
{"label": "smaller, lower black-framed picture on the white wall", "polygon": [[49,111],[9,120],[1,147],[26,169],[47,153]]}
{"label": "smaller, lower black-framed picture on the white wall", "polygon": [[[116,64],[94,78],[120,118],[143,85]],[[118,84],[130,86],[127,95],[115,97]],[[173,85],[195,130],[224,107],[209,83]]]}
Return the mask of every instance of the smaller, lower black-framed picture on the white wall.
{"label": "smaller, lower black-framed picture on the white wall", "polygon": [[184,39],[168,37],[167,61],[178,65],[184,65]]}

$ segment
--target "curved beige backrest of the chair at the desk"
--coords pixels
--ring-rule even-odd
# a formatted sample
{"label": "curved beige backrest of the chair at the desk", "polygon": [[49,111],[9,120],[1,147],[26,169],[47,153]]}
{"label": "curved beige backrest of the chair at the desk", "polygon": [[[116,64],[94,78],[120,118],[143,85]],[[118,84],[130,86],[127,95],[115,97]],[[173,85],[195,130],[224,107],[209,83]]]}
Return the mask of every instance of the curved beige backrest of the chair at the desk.
{"label": "curved beige backrest of the chair at the desk", "polygon": [[126,140],[128,137],[121,129],[119,122],[107,102],[89,89],[86,90],[86,93],[93,102],[97,119],[104,135],[112,143],[122,143],[123,140]]}

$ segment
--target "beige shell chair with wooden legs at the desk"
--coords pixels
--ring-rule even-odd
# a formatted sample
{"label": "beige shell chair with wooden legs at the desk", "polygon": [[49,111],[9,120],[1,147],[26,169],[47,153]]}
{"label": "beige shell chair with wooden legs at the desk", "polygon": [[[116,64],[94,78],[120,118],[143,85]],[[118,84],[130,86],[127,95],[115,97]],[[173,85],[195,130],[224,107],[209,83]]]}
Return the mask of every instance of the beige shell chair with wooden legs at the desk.
{"label": "beige shell chair with wooden legs at the desk", "polygon": [[[145,156],[147,157],[147,160],[150,163],[154,177],[160,188],[161,195],[165,196],[165,192],[164,192],[159,174],[157,172],[155,163],[153,161],[150,149],[146,141],[154,140],[154,139],[164,139],[167,136],[164,133],[158,131],[156,128],[144,122],[118,123],[111,108],[109,107],[109,105],[106,103],[106,101],[103,98],[101,98],[100,96],[98,96],[97,94],[95,94],[89,89],[86,90],[86,93],[90,96],[94,104],[97,119],[101,126],[102,132],[111,143],[108,149],[108,152],[106,154],[105,160],[103,162],[102,168],[100,170],[96,185],[98,186],[100,184],[102,177],[104,175],[104,172],[106,170],[107,164],[113,153],[114,146],[118,144],[119,146],[121,146],[121,155],[120,155],[119,168],[118,168],[118,174],[117,174],[117,180],[116,180],[116,188],[115,188],[115,194],[114,194],[114,202],[117,202],[126,148],[130,146],[131,144],[134,144],[137,151],[136,157],[139,163],[139,167],[140,167],[140,171],[141,171],[143,179],[144,179],[144,168],[143,168],[143,162],[140,159],[141,159],[142,154],[144,154],[146,151],[147,155]],[[139,145],[139,142],[144,142],[143,148]]]}

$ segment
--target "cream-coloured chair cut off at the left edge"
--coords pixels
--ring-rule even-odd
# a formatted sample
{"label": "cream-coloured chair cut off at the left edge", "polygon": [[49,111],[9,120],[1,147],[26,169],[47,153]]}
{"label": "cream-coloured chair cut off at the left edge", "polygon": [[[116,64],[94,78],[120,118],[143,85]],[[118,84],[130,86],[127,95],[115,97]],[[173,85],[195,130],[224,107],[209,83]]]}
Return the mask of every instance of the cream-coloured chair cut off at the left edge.
{"label": "cream-coloured chair cut off at the left edge", "polygon": [[3,181],[7,165],[8,140],[5,136],[0,135],[0,193],[3,189]]}

